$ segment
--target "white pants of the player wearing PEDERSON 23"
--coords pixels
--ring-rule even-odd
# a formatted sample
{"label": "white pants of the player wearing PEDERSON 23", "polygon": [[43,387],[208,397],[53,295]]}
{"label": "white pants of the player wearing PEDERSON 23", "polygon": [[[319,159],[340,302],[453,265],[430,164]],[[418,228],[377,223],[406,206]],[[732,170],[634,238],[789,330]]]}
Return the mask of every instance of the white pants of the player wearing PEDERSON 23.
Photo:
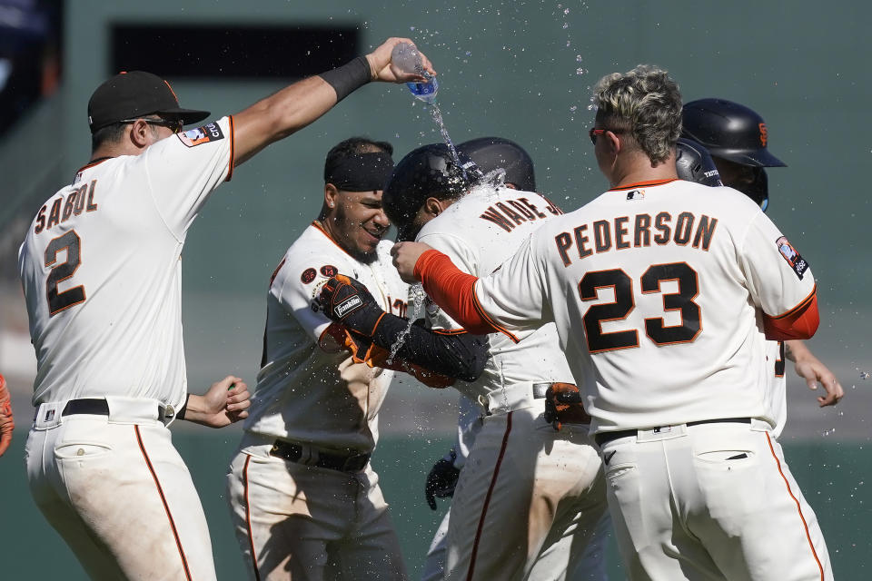
{"label": "white pants of the player wearing PEDERSON 23", "polygon": [[832,580],[817,517],[763,422],[639,430],[602,455],[632,581]]}

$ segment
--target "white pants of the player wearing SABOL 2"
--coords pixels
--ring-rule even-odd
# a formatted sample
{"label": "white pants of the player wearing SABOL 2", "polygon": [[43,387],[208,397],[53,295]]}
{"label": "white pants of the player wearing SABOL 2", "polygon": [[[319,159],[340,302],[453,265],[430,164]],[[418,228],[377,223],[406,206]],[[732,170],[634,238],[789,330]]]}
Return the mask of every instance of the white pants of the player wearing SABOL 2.
{"label": "white pants of the player wearing SABOL 2", "polygon": [[157,402],[115,398],[108,416],[63,409],[37,409],[27,478],[88,576],[215,579],[203,506]]}

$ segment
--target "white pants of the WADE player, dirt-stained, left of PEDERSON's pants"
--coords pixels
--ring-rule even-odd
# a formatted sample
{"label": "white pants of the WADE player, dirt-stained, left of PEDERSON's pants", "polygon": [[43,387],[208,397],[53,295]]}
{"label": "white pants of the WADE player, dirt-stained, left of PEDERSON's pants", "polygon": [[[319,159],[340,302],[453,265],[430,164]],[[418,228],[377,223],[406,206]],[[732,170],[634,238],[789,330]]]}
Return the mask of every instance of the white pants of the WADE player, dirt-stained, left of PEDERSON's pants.
{"label": "white pants of the WADE player, dirt-stained, left of PEDERSON's pants", "polygon": [[[539,407],[494,413],[451,501],[445,578],[526,578],[540,554],[573,535],[580,556],[605,511],[601,463],[586,426],[556,432]],[[567,562],[554,566],[565,571]]]}

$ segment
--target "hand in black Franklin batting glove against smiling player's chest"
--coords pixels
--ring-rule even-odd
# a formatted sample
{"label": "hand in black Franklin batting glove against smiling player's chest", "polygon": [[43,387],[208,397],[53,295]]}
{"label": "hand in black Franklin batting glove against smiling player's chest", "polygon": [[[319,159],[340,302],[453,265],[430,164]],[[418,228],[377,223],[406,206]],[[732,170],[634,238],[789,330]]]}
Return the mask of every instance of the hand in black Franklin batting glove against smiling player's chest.
{"label": "hand in black Franklin batting glove against smiling player's chest", "polygon": [[364,337],[372,337],[384,316],[370,291],[344,274],[337,274],[323,284],[318,304],[328,319]]}

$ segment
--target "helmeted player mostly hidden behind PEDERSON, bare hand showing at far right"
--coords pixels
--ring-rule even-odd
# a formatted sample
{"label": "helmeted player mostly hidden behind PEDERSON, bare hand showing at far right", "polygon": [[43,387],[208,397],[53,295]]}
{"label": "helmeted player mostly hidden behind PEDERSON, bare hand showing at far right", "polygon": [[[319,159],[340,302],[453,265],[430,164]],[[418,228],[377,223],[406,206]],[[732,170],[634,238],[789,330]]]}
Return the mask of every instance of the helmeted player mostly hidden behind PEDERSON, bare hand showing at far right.
{"label": "helmeted player mostly hidden behind PEDERSON, bare hand showing at far right", "polygon": [[[708,98],[685,104],[681,118],[682,134],[708,149],[724,184],[746,194],[766,212],[769,205],[766,168],[787,164],[769,153],[769,134],[763,117],[745,105]],[[836,375],[801,340],[784,341],[770,349],[770,360],[782,393],[787,357],[794,362],[797,375],[806,379],[808,389],[816,390],[819,383],[827,392],[817,398],[820,407],[834,406],[845,396]],[[783,401],[783,395],[779,399]]]}

